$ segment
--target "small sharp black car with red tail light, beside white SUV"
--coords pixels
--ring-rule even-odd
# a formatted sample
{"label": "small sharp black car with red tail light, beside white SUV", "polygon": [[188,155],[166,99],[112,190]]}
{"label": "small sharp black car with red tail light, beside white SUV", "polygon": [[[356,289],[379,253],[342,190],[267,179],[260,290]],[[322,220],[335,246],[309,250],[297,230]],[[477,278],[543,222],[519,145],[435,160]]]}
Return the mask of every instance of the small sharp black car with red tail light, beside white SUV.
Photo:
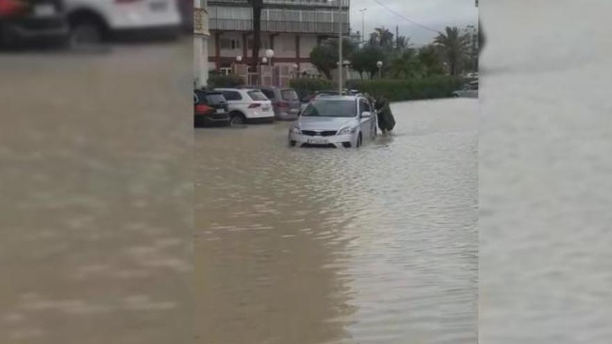
{"label": "small sharp black car with red tail light, beside white SUV", "polygon": [[193,124],[195,126],[229,126],[230,113],[221,92],[193,91]]}

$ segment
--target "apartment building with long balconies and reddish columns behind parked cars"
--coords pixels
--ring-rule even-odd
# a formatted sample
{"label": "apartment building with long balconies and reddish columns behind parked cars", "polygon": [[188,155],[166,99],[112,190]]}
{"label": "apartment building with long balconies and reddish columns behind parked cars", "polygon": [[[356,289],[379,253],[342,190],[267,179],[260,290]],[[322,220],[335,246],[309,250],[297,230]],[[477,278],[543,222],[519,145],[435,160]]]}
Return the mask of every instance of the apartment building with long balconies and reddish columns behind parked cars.
{"label": "apartment building with long balconies and reddish columns behind parked cars", "polygon": [[[338,37],[339,17],[343,34],[350,33],[349,6],[350,0],[264,0],[259,60],[272,49],[273,65],[312,71],[310,51],[323,40]],[[210,0],[208,10],[211,68],[230,68],[238,56],[242,63],[248,63],[252,56],[252,8],[248,1]]]}

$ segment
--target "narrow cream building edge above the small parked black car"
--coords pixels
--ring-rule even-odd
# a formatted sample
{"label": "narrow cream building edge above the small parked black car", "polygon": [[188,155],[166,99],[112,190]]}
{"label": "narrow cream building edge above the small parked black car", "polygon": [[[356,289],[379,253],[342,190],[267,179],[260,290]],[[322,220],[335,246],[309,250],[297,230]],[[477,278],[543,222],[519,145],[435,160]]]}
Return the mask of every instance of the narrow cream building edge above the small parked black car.
{"label": "narrow cream building edge above the small parked black car", "polygon": [[208,85],[209,15],[207,0],[193,0],[193,79],[195,88]]}

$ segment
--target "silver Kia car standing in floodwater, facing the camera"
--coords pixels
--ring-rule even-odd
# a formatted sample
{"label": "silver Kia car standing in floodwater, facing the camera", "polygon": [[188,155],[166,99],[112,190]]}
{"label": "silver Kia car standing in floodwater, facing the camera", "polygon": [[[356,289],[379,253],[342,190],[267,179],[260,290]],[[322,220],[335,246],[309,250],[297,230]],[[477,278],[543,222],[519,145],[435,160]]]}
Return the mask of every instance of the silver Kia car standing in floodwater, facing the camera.
{"label": "silver Kia car standing in floodwater, facing the camera", "polygon": [[376,110],[361,95],[310,101],[289,129],[291,147],[361,147],[378,133]]}

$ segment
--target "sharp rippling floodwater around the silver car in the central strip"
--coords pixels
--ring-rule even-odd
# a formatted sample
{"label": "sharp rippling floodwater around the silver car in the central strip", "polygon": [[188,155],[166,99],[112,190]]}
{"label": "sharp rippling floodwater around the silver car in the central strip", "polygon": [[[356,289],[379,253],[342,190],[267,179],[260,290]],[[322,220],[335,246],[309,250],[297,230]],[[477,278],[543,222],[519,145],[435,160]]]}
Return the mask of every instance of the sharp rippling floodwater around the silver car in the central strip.
{"label": "sharp rippling floodwater around the silver car in the central strip", "polygon": [[476,343],[478,101],[392,110],[362,149],[196,129],[197,343]]}

